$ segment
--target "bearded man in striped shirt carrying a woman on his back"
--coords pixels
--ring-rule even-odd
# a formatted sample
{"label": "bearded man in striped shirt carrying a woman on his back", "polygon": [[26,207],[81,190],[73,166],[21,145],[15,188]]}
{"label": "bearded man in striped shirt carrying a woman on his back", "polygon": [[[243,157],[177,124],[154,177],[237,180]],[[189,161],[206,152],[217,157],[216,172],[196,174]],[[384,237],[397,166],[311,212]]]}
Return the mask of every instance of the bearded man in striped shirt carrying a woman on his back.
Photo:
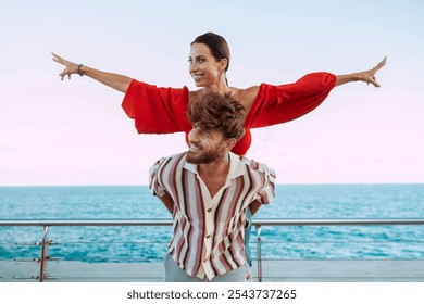
{"label": "bearded man in striped shirt carrying a woman on his back", "polygon": [[230,150],[244,106],[217,93],[188,104],[189,150],[158,161],[150,188],[173,217],[165,281],[251,281],[245,253],[248,207],[274,199],[274,170]]}

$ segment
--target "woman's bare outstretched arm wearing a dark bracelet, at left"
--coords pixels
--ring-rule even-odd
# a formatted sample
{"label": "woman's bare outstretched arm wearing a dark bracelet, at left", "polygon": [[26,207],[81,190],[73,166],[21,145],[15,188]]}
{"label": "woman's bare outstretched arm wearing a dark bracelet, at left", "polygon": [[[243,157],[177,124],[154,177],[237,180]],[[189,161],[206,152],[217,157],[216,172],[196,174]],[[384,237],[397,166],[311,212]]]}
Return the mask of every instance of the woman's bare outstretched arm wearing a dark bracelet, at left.
{"label": "woman's bare outstretched arm wearing a dark bracelet, at left", "polygon": [[72,74],[79,74],[80,76],[86,75],[103,85],[107,85],[108,87],[114,88],[124,93],[133,80],[133,78],[124,75],[95,69],[83,64],[76,64],[74,62],[67,61],[55,53],[51,54],[53,55],[53,61],[65,66],[65,69],[59,74],[59,76],[61,76],[61,80],[63,80],[66,75],[68,79],[71,79]]}

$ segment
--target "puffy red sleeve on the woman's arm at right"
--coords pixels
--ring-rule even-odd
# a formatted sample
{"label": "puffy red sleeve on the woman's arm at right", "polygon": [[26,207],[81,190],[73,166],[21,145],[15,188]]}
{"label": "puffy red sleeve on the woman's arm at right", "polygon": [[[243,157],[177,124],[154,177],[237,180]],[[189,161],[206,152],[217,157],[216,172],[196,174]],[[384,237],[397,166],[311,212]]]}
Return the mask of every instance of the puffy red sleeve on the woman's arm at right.
{"label": "puffy red sleeve on the woman's arm at right", "polygon": [[246,125],[266,127],[296,119],[319,106],[336,84],[336,76],[319,72],[303,76],[294,84],[262,84]]}

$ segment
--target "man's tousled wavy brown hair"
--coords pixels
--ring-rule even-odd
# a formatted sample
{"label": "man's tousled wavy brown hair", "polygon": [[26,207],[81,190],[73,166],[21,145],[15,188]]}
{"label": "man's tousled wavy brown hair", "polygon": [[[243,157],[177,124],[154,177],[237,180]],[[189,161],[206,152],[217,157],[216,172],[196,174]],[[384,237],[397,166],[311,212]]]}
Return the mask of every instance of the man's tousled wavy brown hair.
{"label": "man's tousled wavy brown hair", "polygon": [[230,97],[205,93],[190,100],[187,109],[188,121],[202,130],[220,130],[224,138],[239,140],[245,134],[245,106]]}

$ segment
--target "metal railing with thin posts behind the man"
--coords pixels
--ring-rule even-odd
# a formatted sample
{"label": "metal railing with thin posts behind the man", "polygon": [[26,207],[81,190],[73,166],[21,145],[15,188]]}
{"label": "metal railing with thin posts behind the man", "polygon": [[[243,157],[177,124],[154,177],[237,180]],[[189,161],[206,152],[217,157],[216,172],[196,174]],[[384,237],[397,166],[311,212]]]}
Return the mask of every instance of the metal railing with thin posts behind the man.
{"label": "metal railing with thin posts behind the man", "polygon": [[[253,226],[257,230],[257,265],[258,265],[258,281],[262,281],[262,227],[264,226],[397,226],[397,225],[424,225],[424,218],[349,218],[349,219],[257,219],[253,220]],[[172,220],[169,219],[47,219],[47,220],[24,220],[24,219],[0,219],[0,227],[42,227],[43,237],[39,243],[40,258],[39,275],[34,277],[42,282],[49,279],[47,275],[47,264],[53,259],[49,256],[49,245],[51,242],[48,239],[50,227],[58,226],[172,226]]]}

